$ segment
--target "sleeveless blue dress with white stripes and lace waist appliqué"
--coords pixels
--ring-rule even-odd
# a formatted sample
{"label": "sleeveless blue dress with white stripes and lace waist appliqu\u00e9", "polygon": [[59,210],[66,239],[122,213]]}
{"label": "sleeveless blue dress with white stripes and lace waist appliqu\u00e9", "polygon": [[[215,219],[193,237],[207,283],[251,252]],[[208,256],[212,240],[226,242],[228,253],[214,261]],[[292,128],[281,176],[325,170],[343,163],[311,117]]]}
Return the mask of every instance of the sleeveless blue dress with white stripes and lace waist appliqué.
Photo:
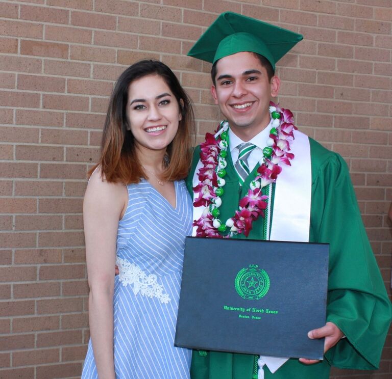
{"label": "sleeveless blue dress with white stripes and lace waist appliqu\u00e9", "polygon": [[[116,379],[186,379],[191,350],[175,347],[174,335],[192,201],[184,181],[175,181],[176,209],[146,180],[127,188],[113,299]],[[82,379],[97,377],[90,340]]]}

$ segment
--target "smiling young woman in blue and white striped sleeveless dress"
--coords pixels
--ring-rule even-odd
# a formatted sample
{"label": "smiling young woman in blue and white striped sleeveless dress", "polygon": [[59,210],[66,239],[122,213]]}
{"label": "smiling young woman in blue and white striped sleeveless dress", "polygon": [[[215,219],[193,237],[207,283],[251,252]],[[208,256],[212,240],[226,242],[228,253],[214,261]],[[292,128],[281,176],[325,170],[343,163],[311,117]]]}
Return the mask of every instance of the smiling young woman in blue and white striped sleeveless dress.
{"label": "smiling young woman in blue and white striped sleeveless dress", "polygon": [[[91,339],[82,378],[184,379],[191,350],[174,346],[192,201],[190,101],[163,63],[120,75],[102,154],[84,198]],[[114,276],[114,266],[119,275]]]}

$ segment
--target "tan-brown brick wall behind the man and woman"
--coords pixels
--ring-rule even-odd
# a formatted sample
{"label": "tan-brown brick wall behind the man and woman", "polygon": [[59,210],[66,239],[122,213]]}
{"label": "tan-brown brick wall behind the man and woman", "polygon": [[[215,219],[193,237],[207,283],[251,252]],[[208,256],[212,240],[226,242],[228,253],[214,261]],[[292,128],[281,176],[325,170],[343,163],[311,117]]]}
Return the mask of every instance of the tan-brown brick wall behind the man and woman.
{"label": "tan-brown brick wall behind the man and woman", "polygon": [[[113,82],[136,60],[167,63],[194,101],[200,141],[219,114],[209,65],[185,53],[227,10],[304,35],[278,64],[279,100],[301,130],[346,159],[389,288],[391,0],[2,0],[0,379],[80,376],[88,341],[82,197]],[[331,377],[391,373],[389,335],[379,371]]]}

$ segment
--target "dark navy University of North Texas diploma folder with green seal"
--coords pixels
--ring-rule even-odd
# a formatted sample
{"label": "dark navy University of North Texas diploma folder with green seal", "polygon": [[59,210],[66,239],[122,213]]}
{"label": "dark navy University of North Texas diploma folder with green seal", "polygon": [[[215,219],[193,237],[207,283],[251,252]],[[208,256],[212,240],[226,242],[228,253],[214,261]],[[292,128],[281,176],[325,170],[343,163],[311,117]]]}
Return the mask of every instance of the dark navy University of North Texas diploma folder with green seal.
{"label": "dark navy University of North Texas diploma folder with green seal", "polygon": [[187,237],[175,345],[323,359],[325,243]]}

